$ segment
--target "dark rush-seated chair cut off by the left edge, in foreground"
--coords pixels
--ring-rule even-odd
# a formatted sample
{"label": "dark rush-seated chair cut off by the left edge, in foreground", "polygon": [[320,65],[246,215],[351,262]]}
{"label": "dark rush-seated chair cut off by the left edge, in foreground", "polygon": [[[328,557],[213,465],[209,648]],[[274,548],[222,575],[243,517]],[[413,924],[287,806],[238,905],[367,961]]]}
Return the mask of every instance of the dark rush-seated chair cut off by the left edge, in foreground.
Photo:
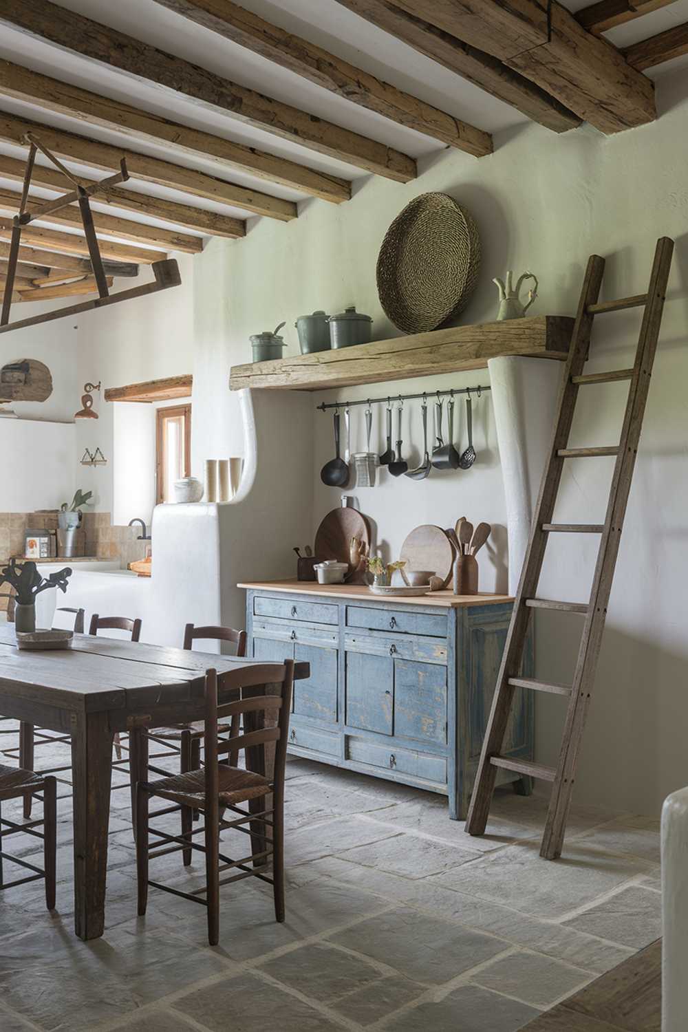
{"label": "dark rush-seated chair cut off by the left edge, in foreground", "polygon": [[[41,820],[29,820],[23,825],[18,825],[13,820],[8,820],[2,816],[2,802],[9,799],[29,799],[35,793],[43,794],[43,817]],[[36,828],[43,826],[42,834]],[[0,890],[11,889],[13,885],[23,885],[27,881],[37,881],[43,878],[45,881],[45,905],[48,910],[55,909],[55,881],[56,881],[56,861],[57,861],[57,782],[48,775],[43,777],[33,771],[23,770],[21,767],[5,767],[0,765]],[[4,841],[9,835],[17,835],[24,832],[42,839],[43,842],[43,870],[30,864],[28,860],[12,857],[4,850]],[[17,878],[14,881],[5,881],[3,862],[8,860],[25,870],[33,871],[25,878]]]}

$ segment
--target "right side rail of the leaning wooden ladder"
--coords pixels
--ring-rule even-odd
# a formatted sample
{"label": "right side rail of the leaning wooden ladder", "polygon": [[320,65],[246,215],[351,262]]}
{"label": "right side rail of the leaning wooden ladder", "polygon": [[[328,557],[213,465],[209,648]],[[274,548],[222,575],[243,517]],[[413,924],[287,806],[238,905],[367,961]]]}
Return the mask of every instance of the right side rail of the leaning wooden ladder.
{"label": "right side rail of the leaning wooden ladder", "polygon": [[604,531],[597,553],[590,605],[581,637],[571,697],[561,739],[557,776],[552,789],[543,836],[540,856],[547,860],[554,860],[561,856],[583,732],[594,687],[607,607],[619,552],[621,529],[635,465],[652,366],[657,350],[673,252],[674,241],[668,237],[661,237],[657,241],[648,291],[648,304],[643,316],[634,373],[628,391],[621,430],[619,454],[615,462],[610,488]]}

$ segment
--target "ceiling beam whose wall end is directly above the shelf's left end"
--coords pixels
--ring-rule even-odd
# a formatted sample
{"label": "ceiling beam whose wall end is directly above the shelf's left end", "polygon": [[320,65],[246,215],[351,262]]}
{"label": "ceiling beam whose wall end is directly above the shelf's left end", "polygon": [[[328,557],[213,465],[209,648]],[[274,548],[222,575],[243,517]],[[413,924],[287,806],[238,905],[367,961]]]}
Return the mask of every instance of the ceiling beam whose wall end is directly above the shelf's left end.
{"label": "ceiling beam whose wall end is directly above the shelf's left end", "polygon": [[[22,182],[26,162],[0,154],[0,179]],[[81,186],[93,186],[94,180],[78,178]],[[34,187],[46,190],[64,191],[67,183],[57,168],[47,165],[33,166],[31,183]],[[245,224],[241,219],[233,219],[228,215],[208,212],[207,208],[192,207],[190,204],[178,204],[176,201],[163,197],[151,197],[146,194],[134,193],[132,190],[121,190],[112,187],[99,192],[97,203],[107,202],[125,212],[135,212],[161,222],[173,222],[177,226],[187,226],[210,236],[228,236],[236,238],[245,235]],[[94,215],[97,214],[94,211]]]}

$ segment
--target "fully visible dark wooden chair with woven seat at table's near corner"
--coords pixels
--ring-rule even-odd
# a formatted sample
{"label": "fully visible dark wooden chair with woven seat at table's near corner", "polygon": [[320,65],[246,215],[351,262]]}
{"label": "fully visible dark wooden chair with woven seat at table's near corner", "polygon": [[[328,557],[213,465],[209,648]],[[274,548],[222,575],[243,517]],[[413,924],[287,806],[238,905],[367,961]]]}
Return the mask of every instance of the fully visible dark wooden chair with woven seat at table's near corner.
{"label": "fully visible dark wooden chair with woven seat at table's near corner", "polygon": [[[273,888],[274,916],[285,920],[284,889],[284,802],[285,764],[289,711],[291,709],[294,663],[284,666],[260,666],[232,670],[218,675],[208,670],[205,674],[205,767],[161,778],[158,781],[139,782],[136,793],[136,870],[138,878],[138,913],[144,914],[149,885],[183,896],[207,907],[208,942],[217,945],[220,937],[220,886],[240,878],[254,876]],[[267,694],[266,694],[267,692]],[[218,704],[218,698],[238,699]],[[218,739],[221,719],[243,718],[243,734],[229,742]],[[266,745],[271,748],[268,752]],[[243,770],[220,762],[227,752],[243,749],[247,767]],[[152,796],[171,802],[173,807],[187,811],[187,830],[181,835],[156,831],[149,825],[149,801]],[[267,797],[271,797],[271,800]],[[260,801],[260,802],[259,802]],[[249,810],[239,803],[248,803]],[[239,816],[225,820],[221,808]],[[192,830],[191,811],[199,809],[204,814],[203,828]],[[155,814],[151,814],[155,816]],[[270,819],[271,818],[271,819]],[[244,825],[250,825],[247,829]],[[251,836],[251,854],[232,860],[220,851],[220,833],[236,829]],[[268,829],[271,829],[271,837]],[[204,845],[193,841],[203,834]],[[150,836],[156,841],[150,845]],[[149,879],[151,859],[181,850],[185,865],[191,862],[191,850],[205,853],[206,883],[195,893],[183,893]],[[266,873],[272,859],[272,877]],[[221,865],[222,861],[222,865]],[[253,865],[253,866],[251,866]],[[220,875],[232,868],[237,874],[221,880]],[[205,898],[203,898],[205,897]]]}

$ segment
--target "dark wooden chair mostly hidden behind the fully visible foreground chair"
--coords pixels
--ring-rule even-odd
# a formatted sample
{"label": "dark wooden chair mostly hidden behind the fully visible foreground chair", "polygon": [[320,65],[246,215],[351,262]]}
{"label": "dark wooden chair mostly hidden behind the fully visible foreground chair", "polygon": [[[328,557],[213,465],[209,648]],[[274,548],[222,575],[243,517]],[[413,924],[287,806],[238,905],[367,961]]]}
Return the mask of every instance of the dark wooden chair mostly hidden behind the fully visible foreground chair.
{"label": "dark wooden chair mostly hidden behind the fully visible foreground chair", "polygon": [[[193,643],[195,640],[201,639],[211,639],[212,641],[221,642],[231,642],[236,645],[236,655],[243,657],[247,654],[247,633],[245,631],[234,631],[233,627],[223,627],[223,626],[203,626],[196,627],[193,623],[187,623],[184,630],[184,648],[189,650],[193,648]],[[220,723],[218,725],[218,734],[229,735],[230,738],[236,737],[239,731],[239,717],[234,716],[229,723]],[[165,756],[177,755],[179,756],[179,773],[186,774],[187,771],[197,770],[201,766],[201,742],[203,740],[203,735],[205,732],[205,725],[202,720],[195,720],[192,723],[179,723],[168,728],[153,728],[146,732],[149,742],[156,742],[158,745],[167,747],[167,752],[158,752],[155,754],[154,759],[160,760]],[[178,743],[178,744],[177,744]],[[231,761],[231,756],[230,756]],[[162,767],[154,766],[149,762],[149,770],[154,774],[161,774],[166,777],[169,771],[163,770]],[[132,824],[136,825],[136,800],[133,793],[132,785]],[[193,817],[198,816],[198,811],[194,811]],[[183,815],[183,829],[185,831],[186,817]],[[188,850],[188,861],[191,863],[191,848]]]}

